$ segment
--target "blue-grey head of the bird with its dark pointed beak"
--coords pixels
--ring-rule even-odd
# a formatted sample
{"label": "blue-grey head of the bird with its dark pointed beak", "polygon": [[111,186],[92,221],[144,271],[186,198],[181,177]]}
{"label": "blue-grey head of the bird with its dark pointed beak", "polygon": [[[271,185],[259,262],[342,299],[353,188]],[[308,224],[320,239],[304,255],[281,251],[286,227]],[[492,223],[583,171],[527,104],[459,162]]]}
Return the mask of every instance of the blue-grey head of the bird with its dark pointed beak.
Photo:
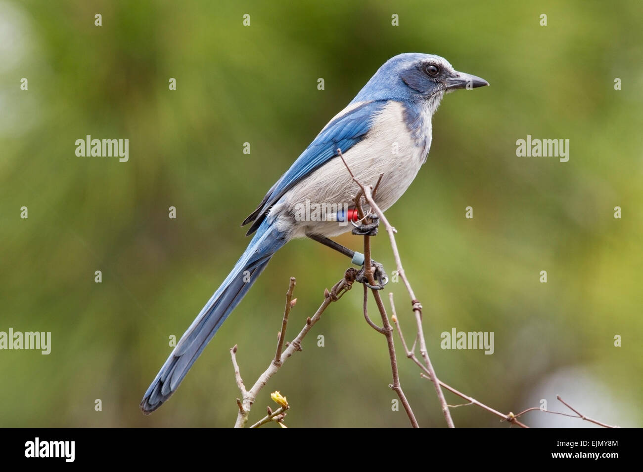
{"label": "blue-grey head of the bird with its dark pointed beak", "polygon": [[489,83],[475,75],[455,71],[443,57],[404,53],[386,61],[359,91],[353,102],[430,101],[437,107],[445,93],[484,85]]}

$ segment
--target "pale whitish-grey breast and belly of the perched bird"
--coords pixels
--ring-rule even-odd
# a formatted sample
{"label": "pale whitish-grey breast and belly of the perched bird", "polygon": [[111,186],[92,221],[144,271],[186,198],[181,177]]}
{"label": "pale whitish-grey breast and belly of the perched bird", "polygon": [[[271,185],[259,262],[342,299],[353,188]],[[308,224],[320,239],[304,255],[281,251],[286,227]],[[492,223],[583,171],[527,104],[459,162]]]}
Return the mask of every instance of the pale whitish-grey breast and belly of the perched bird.
{"label": "pale whitish-grey breast and belly of the perched bird", "polygon": [[[375,119],[363,141],[343,153],[355,177],[363,184],[374,186],[384,173],[377,188],[376,202],[382,210],[388,209],[410,186],[426,160],[431,145],[431,110],[423,110],[423,129],[412,137],[404,121],[404,107],[389,101]],[[336,236],[352,229],[337,222],[297,221],[296,205],[349,204],[351,207],[359,187],[339,157],[331,159],[309,177],[290,189],[271,209],[269,218],[281,231],[292,237],[315,232]]]}

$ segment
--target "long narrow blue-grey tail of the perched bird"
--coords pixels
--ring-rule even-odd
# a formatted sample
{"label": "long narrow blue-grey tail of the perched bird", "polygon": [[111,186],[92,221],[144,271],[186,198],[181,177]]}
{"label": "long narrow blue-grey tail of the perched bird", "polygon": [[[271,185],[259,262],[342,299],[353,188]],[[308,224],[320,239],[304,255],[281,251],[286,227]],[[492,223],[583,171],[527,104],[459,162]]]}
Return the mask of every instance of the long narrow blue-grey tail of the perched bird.
{"label": "long narrow blue-grey tail of the perched bird", "polygon": [[149,415],[176,392],[201,351],[258,279],[273,254],[287,241],[288,238],[283,232],[277,231],[267,220],[262,222],[248,249],[190,328],[183,333],[174,351],[145,392],[140,405],[143,413]]}

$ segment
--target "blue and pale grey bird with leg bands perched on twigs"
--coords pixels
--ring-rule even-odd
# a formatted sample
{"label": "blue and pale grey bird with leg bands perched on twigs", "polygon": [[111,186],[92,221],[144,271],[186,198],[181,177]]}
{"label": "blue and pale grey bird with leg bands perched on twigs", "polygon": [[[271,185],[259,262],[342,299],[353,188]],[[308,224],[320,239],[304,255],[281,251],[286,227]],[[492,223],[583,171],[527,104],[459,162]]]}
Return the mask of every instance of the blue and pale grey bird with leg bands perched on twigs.
{"label": "blue and pale grey bird with leg bands perched on twigs", "polygon": [[363,264],[359,252],[329,239],[352,229],[342,223],[340,214],[334,221],[295,215],[306,202],[328,207],[353,202],[359,188],[338,158],[338,148],[360,182],[374,184],[383,173],[375,200],[385,211],[403,195],[426,162],[431,118],[444,94],[484,85],[489,83],[455,71],[447,60],[435,55],[400,54],[381,66],[242,223],[252,223],[246,236],[255,233],[248,249],[161,367],[141,401],[143,413],[150,414],[176,392],[221,324],[289,240],[309,237],[340,250],[357,265]]}

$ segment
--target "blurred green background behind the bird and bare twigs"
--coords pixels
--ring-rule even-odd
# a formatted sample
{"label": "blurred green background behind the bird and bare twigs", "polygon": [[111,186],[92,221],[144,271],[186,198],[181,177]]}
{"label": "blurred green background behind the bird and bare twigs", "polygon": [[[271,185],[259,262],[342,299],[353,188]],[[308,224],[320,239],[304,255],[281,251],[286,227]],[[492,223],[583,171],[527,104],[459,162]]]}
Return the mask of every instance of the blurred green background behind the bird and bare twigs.
{"label": "blurred green background behind the bird and bare twigs", "polygon": [[[491,83],[445,98],[428,162],[387,212],[440,379],[503,412],[540,399],[561,411],[561,394],[586,415],[640,426],[642,13],[638,0],[0,1],[0,331],[52,337],[48,356],[0,351],[0,426],[231,426],[239,393],[228,349],[239,345],[253,383],[274,354],[288,277],[298,281],[292,338],[349,267],[340,254],[305,240],[280,250],[174,397],[150,417],[138,403],[168,337],[246,247],[239,223],[402,52],[442,55]],[[87,134],[129,139],[129,162],[76,157]],[[528,134],[570,139],[570,161],[516,157]],[[374,258],[394,268],[384,236]],[[388,288],[412,337],[404,287]],[[280,390],[289,426],[408,426],[391,408],[385,339],[360,307],[357,287],[327,310],[251,421]],[[494,331],[494,354],[440,349],[454,327]],[[419,423],[444,426],[433,387],[395,340]],[[453,419],[506,426],[475,406]]]}

